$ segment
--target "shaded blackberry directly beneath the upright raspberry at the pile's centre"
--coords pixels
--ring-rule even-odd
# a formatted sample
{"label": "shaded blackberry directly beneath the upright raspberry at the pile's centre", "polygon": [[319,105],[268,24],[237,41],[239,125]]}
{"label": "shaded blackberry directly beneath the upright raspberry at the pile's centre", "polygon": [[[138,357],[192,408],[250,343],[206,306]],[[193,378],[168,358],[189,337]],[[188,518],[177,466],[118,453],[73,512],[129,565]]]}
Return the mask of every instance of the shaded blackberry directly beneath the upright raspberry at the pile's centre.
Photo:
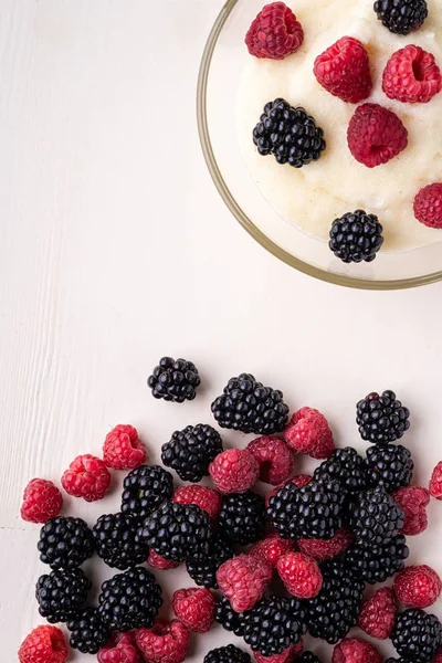
{"label": "shaded blackberry directly beneath the upright raspberry at the pile's centre", "polygon": [[225,495],[218,517],[221,535],[241,546],[263,537],[265,520],[264,498],[253,491]]}

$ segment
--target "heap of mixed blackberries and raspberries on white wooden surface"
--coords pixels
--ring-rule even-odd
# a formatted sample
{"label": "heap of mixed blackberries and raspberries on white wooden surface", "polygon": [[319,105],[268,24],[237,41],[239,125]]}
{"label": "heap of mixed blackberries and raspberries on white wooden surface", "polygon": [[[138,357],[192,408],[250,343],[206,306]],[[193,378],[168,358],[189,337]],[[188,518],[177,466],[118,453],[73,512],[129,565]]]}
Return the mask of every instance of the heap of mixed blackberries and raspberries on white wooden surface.
{"label": "heap of mixed blackberries and raspberries on white wooden surface", "polygon": [[[357,403],[360,435],[371,443],[365,457],[335,448],[318,410],[302,408],[288,420],[282,392],[250,373],[232,378],[212,411],[223,427],[261,436],[224,451],[208,424],[173,433],[162,457],[193,484],[175,487],[172,474],[147,465],[130,425],[106,436],[103,460],[75,459],[61,483],[87,502],[104,497],[109,467],[129,471],[122,511],[102,515],[92,528],[60,515],[63,498],[52,482],[28,484],[21,514],[43,523],[38,549],[51,567],[36,582],[40,614],[50,624],[65,623],[71,646],[97,654],[99,663],[180,663],[191,634],[208,632],[215,621],[242,636],[257,663],[320,663],[303,651],[307,632],[335,645],[335,663],[380,663],[373,644],[348,638],[356,625],[373,639],[391,639],[399,661],[430,663],[438,650],[441,655],[442,624],[425,609],[442,582],[427,565],[406,567],[406,537],[425,529],[430,494],[442,498],[442,463],[429,490],[411,484],[413,461],[398,443],[410,413],[396,394],[370,393]],[[313,476],[294,474],[294,452],[318,460]],[[213,487],[196,483],[206,474]],[[271,486],[265,498],[259,481]],[[81,566],[95,552],[118,572],[103,582],[94,604],[93,582]],[[145,565],[167,570],[180,564],[196,586],[176,591],[175,618],[160,619],[161,587]],[[391,587],[364,597],[366,585],[389,578]],[[54,625],[34,629],[19,650],[20,663],[64,663],[67,656]],[[234,644],[204,657],[250,661]]]}

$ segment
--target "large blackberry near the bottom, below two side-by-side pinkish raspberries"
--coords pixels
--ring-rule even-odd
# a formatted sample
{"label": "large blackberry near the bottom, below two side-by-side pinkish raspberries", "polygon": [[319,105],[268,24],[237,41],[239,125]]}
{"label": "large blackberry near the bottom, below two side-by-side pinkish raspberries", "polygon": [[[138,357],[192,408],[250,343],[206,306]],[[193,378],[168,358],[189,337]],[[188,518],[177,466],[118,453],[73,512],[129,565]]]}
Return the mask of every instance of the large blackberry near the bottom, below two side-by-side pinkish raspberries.
{"label": "large blackberry near the bottom, below two side-by-side pinkish raspberries", "polygon": [[262,599],[243,619],[244,641],[263,656],[281,654],[306,632],[303,602],[294,597]]}

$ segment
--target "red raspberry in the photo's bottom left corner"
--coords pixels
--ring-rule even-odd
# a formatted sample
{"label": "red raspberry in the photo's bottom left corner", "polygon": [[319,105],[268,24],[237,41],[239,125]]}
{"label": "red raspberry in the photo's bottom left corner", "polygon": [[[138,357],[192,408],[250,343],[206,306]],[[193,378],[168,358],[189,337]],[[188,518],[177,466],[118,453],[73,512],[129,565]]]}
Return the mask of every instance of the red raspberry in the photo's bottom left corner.
{"label": "red raspberry in the photo's bottom left corner", "polygon": [[67,644],[56,627],[36,627],[19,649],[20,663],[64,663],[67,656]]}

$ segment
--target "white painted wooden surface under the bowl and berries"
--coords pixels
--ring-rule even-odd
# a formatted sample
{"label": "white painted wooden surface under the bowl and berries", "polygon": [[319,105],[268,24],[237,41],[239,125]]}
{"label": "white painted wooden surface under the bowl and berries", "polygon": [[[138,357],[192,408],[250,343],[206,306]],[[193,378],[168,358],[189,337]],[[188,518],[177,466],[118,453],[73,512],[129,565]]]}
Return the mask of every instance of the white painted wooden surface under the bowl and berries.
{"label": "white painted wooden surface under the bowl and berries", "polygon": [[[358,443],[355,401],[396,388],[413,411],[407,441],[417,480],[427,482],[442,459],[442,284],[361,293],[309,280],[254,244],[210,181],[194,92],[220,7],[0,1],[4,661],[42,621],[33,599],[39,528],[18,516],[23,485],[59,481],[76,454],[99,453],[118,422],[136,425],[158,460],[171,432],[210,421],[225,380],[248,370],[293,407],[324,410],[341,445]],[[200,367],[204,387],[192,403],[149,396],[146,377],[165,354]],[[105,502],[66,499],[65,511],[92,524],[118,508],[120,482]],[[442,505],[430,517],[411,559],[442,571]],[[94,568],[98,580],[106,571]],[[166,597],[191,585],[181,569],[160,576]],[[229,641],[220,629],[194,638],[189,661]]]}

